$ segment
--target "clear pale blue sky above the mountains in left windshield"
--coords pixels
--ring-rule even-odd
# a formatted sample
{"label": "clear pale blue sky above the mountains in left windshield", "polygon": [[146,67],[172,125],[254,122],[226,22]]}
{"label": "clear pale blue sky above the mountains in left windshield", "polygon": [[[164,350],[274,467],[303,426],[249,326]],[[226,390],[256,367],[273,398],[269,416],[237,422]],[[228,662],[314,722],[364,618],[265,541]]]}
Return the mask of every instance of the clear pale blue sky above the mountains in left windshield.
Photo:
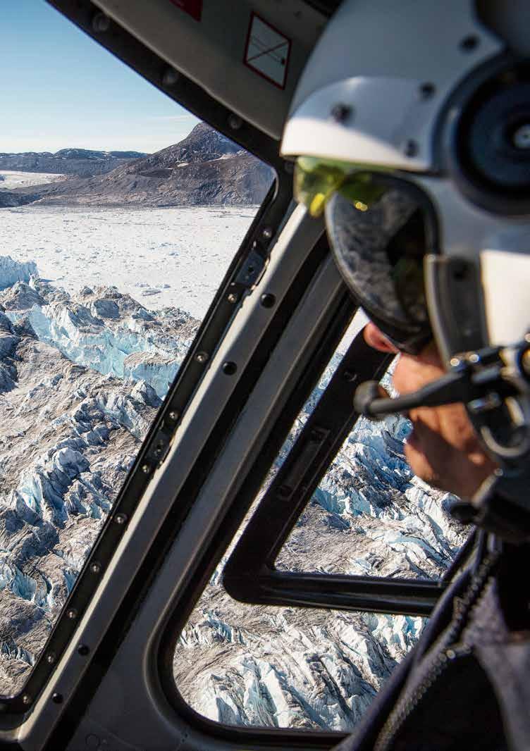
{"label": "clear pale blue sky above the mountains in left windshield", "polygon": [[45,0],[0,0],[0,81],[0,152],[154,152],[198,122]]}

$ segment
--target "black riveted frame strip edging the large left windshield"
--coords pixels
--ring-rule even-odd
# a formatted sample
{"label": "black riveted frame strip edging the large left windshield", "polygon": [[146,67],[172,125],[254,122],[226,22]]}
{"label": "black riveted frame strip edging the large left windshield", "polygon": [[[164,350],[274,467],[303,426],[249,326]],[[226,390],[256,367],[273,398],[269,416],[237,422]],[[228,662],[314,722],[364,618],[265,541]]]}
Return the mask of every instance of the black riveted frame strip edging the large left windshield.
{"label": "black riveted frame strip edging the large left windshield", "polygon": [[[206,363],[203,358],[197,357],[198,353],[207,351],[211,355],[216,351],[247,291],[256,283],[265,267],[271,241],[292,201],[292,174],[289,164],[278,155],[277,141],[250,123],[241,122],[241,119],[238,119],[237,128],[231,127],[231,123],[235,125],[233,113],[186,77],[168,77],[168,65],[126,29],[113,23],[110,32],[102,34],[98,31],[98,25],[93,23],[100,11],[89,0],[47,2],[156,88],[272,167],[276,177],[241,245],[235,250],[235,257],[223,282],[29,677],[14,695],[0,696],[0,712],[6,727],[16,727],[32,709],[53,674],[56,662],[73,638],[80,617],[98,587],[101,574],[114,555],[154,472],[165,460],[172,436],[201,382]],[[80,655],[83,655],[83,645],[79,649]]]}

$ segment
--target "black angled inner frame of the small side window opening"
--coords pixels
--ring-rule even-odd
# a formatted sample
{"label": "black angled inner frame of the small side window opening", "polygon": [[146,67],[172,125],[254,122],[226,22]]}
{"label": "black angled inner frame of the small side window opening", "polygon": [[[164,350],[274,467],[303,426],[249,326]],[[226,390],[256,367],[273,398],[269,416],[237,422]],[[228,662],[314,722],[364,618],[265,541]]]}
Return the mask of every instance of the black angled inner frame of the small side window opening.
{"label": "black angled inner frame of the small side window opening", "polygon": [[358,333],[319,403],[247,524],[223,571],[234,599],[281,605],[374,611],[428,617],[443,593],[443,579],[369,577],[279,571],[274,560],[350,430],[356,385],[380,379],[392,356],[369,347]]}

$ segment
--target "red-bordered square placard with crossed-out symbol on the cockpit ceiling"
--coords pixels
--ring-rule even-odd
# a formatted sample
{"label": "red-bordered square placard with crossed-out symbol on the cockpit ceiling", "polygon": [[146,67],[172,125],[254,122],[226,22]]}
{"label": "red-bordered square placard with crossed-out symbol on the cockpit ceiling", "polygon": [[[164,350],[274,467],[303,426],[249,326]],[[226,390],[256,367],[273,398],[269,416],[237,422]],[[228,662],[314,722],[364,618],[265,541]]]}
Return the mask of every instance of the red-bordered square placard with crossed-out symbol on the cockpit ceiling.
{"label": "red-bordered square placard with crossed-out symbol on the cockpit ceiling", "polygon": [[245,65],[283,89],[290,51],[291,40],[253,13],[247,36]]}

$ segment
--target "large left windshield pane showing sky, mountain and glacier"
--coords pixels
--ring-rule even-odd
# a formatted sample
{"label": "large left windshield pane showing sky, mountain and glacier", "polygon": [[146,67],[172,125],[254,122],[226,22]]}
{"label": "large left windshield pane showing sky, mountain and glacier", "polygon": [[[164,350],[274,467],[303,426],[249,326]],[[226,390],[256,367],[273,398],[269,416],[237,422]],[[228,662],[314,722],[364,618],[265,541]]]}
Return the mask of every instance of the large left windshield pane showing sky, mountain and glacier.
{"label": "large left windshield pane showing sky, mountain and glacier", "polygon": [[38,659],[273,179],[25,5],[2,4],[0,50],[2,695]]}

